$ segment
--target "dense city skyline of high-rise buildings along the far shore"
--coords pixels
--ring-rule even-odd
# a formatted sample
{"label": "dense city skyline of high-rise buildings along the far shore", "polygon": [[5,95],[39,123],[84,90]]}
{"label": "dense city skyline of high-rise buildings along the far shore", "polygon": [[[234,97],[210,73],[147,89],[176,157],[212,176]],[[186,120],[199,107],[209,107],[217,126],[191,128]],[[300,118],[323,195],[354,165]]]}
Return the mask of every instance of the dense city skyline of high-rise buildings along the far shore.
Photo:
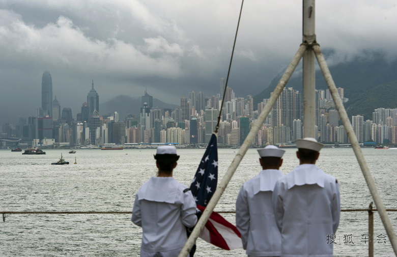
{"label": "dense city skyline of high-rise buildings along the far shore", "polygon": [[[218,124],[218,144],[230,147],[242,145],[252,124],[258,119],[268,99],[257,106],[252,96],[236,97],[220,79],[219,94],[206,97],[202,91],[185,92],[180,106],[174,109],[153,107],[153,97],[147,91],[141,97],[139,113],[121,118],[118,110],[110,115],[99,110],[99,94],[92,88],[83,102],[81,112],[73,118],[70,107],[52,99],[52,78],[44,72],[42,78],[42,106],[36,116],[20,118],[18,124],[2,126],[1,137],[19,137],[19,144],[48,147],[102,146],[117,144],[171,143],[183,146],[207,144]],[[342,101],[344,89],[338,88]],[[252,146],[293,145],[303,135],[303,103],[301,92],[284,89],[262,124]],[[255,107],[255,108],[254,108]],[[349,144],[344,126],[328,90],[316,90],[317,138],[324,144]],[[351,123],[362,144],[397,144],[397,109],[377,108],[372,119],[352,116]],[[3,146],[6,144],[2,142]]]}

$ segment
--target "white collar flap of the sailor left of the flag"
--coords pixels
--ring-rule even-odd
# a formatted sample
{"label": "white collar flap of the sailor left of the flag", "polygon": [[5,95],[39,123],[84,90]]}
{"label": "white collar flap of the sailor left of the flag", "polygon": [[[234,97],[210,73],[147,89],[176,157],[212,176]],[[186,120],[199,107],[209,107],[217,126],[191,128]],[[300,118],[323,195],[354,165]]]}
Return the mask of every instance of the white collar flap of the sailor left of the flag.
{"label": "white collar flap of the sailor left of the flag", "polygon": [[138,200],[174,204],[177,197],[178,182],[173,177],[151,177],[138,194]]}

